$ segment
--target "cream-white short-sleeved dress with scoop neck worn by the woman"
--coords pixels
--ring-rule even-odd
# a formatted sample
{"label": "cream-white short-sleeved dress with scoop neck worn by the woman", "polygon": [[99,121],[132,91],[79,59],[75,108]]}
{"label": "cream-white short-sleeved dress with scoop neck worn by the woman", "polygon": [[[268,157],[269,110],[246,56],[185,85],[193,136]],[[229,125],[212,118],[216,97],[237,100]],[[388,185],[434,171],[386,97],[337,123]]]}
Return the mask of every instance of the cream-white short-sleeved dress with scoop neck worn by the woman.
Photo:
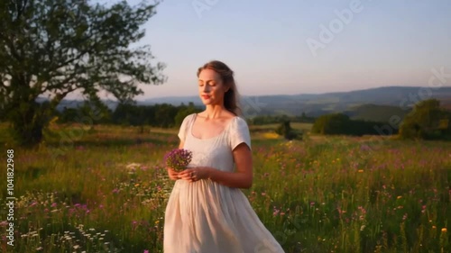
{"label": "cream-white short-sleeved dress with scoop neck worn by the woman", "polygon": [[[179,130],[183,149],[193,153],[189,167],[233,172],[232,150],[243,142],[251,148],[247,123],[235,117],[219,135],[198,139],[191,131],[196,116],[187,116]],[[284,252],[239,188],[209,179],[177,180],[164,219],[164,253]]]}

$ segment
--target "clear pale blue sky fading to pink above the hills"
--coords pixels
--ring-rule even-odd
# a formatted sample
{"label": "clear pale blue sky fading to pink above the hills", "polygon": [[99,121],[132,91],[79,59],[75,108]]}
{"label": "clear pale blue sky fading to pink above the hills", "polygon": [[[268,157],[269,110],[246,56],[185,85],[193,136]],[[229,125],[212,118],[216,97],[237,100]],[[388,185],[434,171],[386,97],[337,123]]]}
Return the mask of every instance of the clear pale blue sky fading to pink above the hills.
{"label": "clear pale blue sky fading to pink above the hills", "polygon": [[156,12],[140,44],[168,80],[138,100],[198,95],[211,59],[235,71],[241,95],[428,86],[432,68],[451,73],[449,0],[166,0]]}

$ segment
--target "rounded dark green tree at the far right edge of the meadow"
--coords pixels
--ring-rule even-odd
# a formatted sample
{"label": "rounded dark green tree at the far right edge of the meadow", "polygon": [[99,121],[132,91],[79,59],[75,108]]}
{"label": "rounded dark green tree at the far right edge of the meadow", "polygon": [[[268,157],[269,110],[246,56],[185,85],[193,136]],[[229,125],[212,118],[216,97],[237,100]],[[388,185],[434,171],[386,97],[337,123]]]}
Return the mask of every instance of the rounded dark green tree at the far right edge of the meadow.
{"label": "rounded dark green tree at the far right edge of the meadow", "polygon": [[437,99],[415,104],[400,125],[402,139],[441,139],[449,135],[449,112],[440,107]]}

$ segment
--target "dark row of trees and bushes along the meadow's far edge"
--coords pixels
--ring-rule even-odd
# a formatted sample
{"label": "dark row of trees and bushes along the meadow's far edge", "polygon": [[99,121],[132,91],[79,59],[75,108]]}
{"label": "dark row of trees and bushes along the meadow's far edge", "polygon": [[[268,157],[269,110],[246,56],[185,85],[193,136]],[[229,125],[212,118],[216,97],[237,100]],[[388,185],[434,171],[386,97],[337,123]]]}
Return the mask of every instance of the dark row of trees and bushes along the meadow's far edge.
{"label": "dark row of trees and bushes along the meadow's far edge", "polygon": [[[118,104],[114,111],[106,107],[93,107],[84,104],[78,108],[64,108],[55,112],[56,122],[92,122],[131,126],[152,126],[177,128],[190,113],[199,113],[203,109],[194,104]],[[80,120],[81,119],[81,120]],[[430,99],[416,104],[414,110],[404,119],[396,122],[372,122],[352,120],[345,113],[329,113],[318,118],[288,115],[260,115],[248,118],[249,125],[279,123],[280,134],[290,137],[290,122],[313,123],[312,133],[324,135],[391,135],[400,133],[404,139],[448,139],[451,136],[451,113],[440,106],[439,101]],[[283,131],[285,130],[285,131]]]}

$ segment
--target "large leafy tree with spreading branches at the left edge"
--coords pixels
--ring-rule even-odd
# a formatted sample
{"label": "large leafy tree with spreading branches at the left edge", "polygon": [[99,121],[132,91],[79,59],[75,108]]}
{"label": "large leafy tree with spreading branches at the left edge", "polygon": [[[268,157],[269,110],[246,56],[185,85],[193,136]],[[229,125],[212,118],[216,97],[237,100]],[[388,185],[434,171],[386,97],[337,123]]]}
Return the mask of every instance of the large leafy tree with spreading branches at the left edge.
{"label": "large leafy tree with spreading branches at the left edge", "polygon": [[[80,91],[120,102],[143,94],[138,84],[162,84],[164,65],[151,64],[148,46],[131,49],[154,5],[125,1],[106,7],[86,0],[0,2],[0,113],[22,144],[36,144],[60,101]],[[50,103],[36,99],[48,95]]]}

